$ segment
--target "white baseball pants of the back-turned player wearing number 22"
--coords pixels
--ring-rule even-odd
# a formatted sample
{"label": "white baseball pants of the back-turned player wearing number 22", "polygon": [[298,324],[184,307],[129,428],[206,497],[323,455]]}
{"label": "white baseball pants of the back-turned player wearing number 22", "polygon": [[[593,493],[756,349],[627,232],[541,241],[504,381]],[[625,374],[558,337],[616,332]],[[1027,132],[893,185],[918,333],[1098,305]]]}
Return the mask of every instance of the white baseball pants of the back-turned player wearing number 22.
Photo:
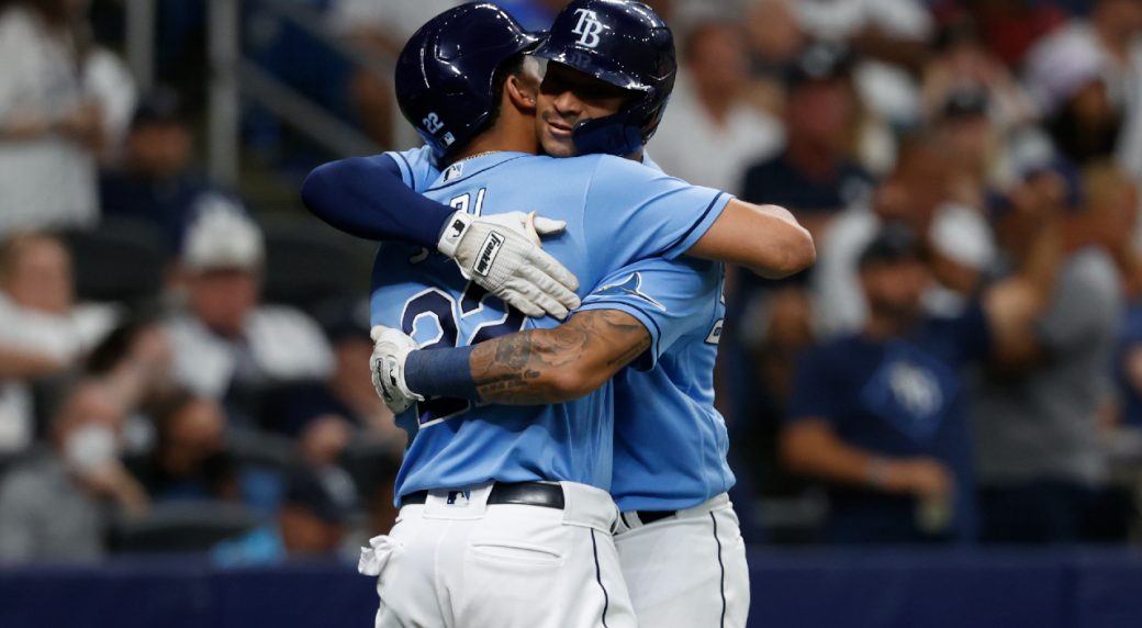
{"label": "white baseball pants of the back-turned player wearing number 22", "polygon": [[612,536],[618,507],[605,491],[561,485],[562,510],[488,505],[491,484],[402,507],[361,553],[361,573],[378,577],[377,628],[637,626]]}

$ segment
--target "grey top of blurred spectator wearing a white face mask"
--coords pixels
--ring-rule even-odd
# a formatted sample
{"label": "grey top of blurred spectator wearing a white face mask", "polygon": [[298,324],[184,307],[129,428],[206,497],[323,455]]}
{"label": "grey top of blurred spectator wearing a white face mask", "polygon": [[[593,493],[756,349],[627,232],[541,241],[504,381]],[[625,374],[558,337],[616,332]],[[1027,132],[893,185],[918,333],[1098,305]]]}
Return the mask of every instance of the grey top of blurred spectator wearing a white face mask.
{"label": "grey top of blurred spectator wearing a white face mask", "polygon": [[0,563],[98,558],[103,524],[100,504],[57,456],[13,467],[0,484]]}

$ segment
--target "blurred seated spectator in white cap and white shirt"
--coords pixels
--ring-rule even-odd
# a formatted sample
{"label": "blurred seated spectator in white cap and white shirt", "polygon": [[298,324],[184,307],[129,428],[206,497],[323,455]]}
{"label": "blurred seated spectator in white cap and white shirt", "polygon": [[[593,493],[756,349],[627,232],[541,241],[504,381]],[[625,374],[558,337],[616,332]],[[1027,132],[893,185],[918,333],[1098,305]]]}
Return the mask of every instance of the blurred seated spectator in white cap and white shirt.
{"label": "blurred seated spectator in white cap and white shirt", "polygon": [[231,419],[254,421],[272,385],[325,380],[329,343],[305,314],[260,305],[265,245],[242,214],[216,208],[187,231],[182,264],[187,307],[170,322],[175,378],[223,401]]}

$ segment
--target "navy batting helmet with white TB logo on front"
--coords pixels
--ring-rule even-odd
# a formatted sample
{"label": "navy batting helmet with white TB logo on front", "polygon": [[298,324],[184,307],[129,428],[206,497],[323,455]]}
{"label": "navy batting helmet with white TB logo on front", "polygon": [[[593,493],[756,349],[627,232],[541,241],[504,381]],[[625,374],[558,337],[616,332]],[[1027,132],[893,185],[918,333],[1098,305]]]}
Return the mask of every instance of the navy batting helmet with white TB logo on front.
{"label": "navy batting helmet with white TB logo on front", "polygon": [[536,56],[638,94],[619,113],[576,124],[572,140],[580,154],[641,151],[658,130],[678,69],[670,27],[650,7],[629,0],[574,0]]}

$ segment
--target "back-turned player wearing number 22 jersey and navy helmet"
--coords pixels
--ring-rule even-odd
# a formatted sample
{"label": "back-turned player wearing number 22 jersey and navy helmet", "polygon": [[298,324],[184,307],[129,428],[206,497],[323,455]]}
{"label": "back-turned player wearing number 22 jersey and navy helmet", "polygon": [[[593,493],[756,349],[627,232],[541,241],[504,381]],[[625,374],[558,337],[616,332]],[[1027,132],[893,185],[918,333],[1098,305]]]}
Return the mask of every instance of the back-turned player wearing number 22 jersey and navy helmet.
{"label": "back-turned player wearing number 22 jersey and navy helmet", "polygon": [[[448,34],[449,24],[464,27]],[[473,34],[478,34],[480,46],[471,45]],[[552,160],[504,151],[536,148],[528,59],[520,58],[510,73],[494,72],[508,67],[505,62],[525,48],[525,39],[505,14],[488,5],[467,5],[429,22],[402,53],[402,111],[418,123],[427,120],[426,126],[439,122],[456,129],[448,131],[449,138],[423,132],[437,156],[450,163],[428,196],[476,216],[538,196],[568,227],[553,241],[552,251],[590,284],[637,259],[691,249],[726,206],[738,203],[617,158]],[[492,55],[501,58],[485,65],[491,75],[474,79],[477,86],[499,88],[500,111],[485,127],[465,126],[460,118],[426,108],[427,96],[448,94],[457,58]],[[468,65],[466,72],[478,65]],[[506,78],[492,80],[496,74]],[[488,107],[494,108],[488,87]],[[436,120],[428,113],[436,113]],[[592,202],[596,198],[606,203]],[[463,234],[464,227],[458,225],[456,233]],[[612,253],[608,259],[588,255],[604,241]],[[500,234],[490,232],[472,272],[486,273],[502,247]],[[486,299],[447,258],[419,247],[386,244],[377,269],[375,322],[401,329],[425,347],[467,347],[524,327],[555,324],[550,319],[525,320]],[[584,312],[565,327],[571,325],[618,336],[641,329],[634,316],[613,309]],[[394,341],[415,347],[403,337]],[[465,351],[420,352],[428,360],[403,367],[429,380],[444,378],[466,365]],[[433,361],[445,354],[448,361]],[[625,363],[617,361],[612,372]],[[456,391],[445,386],[441,392],[452,398],[418,400],[399,417],[413,434],[397,477],[401,518],[362,557],[362,570],[379,574],[378,625],[630,625],[629,601],[606,533],[614,512],[600,490],[611,478],[610,384],[574,402],[542,408],[474,405],[463,401],[471,397],[463,381]],[[389,402],[402,409],[395,397]]]}

